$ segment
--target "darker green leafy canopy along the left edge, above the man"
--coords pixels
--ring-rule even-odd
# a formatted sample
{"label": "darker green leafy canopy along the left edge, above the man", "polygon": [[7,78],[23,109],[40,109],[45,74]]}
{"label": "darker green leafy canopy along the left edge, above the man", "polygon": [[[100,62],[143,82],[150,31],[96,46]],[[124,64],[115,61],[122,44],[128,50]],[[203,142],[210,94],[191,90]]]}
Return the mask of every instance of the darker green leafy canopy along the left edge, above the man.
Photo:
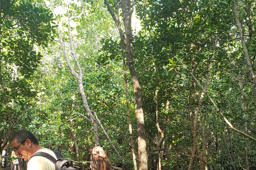
{"label": "darker green leafy canopy along the left edge, above the man", "polygon": [[53,19],[48,8],[30,1],[1,1],[0,13],[0,117],[5,120],[0,126],[4,139],[37,95],[33,74],[42,58],[38,49],[45,48],[53,38]]}

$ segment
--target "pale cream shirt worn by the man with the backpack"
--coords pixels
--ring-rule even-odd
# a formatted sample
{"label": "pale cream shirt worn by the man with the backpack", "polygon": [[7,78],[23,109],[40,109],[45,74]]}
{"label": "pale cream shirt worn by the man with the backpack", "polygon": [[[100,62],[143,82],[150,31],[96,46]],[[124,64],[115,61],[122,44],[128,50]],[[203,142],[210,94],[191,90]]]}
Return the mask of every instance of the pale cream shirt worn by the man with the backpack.
{"label": "pale cream shirt worn by the man with the backpack", "polygon": [[[54,152],[50,149],[43,148],[39,149],[37,152],[46,152],[57,159]],[[55,170],[55,164],[43,156],[34,156],[33,158],[29,159],[27,170]]]}

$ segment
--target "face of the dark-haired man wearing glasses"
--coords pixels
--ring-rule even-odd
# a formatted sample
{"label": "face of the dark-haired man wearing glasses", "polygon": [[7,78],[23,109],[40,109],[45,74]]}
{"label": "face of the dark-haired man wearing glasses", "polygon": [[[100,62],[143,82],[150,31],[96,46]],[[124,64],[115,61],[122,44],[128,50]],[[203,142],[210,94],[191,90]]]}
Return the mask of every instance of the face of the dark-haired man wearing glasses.
{"label": "face of the dark-haired man wearing glasses", "polygon": [[11,145],[16,155],[18,155],[21,159],[24,159],[25,161],[29,160],[31,154],[29,152],[29,147],[26,141],[18,143],[17,139],[14,139],[13,141],[11,141]]}

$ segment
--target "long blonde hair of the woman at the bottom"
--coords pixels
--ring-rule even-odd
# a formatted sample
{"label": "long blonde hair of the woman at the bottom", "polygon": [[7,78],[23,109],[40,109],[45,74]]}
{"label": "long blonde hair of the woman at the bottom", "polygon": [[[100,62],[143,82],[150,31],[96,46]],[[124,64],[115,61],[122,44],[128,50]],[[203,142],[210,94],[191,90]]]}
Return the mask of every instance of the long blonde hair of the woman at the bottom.
{"label": "long blonde hair of the woman at the bottom", "polygon": [[111,165],[109,163],[109,159],[105,151],[99,146],[95,146],[92,151],[99,154],[99,157],[100,157],[99,160],[97,161],[98,164],[95,165],[96,170],[109,170]]}

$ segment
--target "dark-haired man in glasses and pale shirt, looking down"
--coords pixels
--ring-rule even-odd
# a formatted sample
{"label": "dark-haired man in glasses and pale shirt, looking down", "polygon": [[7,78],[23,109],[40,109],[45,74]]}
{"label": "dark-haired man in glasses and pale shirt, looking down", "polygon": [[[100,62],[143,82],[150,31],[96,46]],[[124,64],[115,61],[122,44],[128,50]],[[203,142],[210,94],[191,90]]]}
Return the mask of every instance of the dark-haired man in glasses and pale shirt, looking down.
{"label": "dark-haired man in glasses and pale shirt, looking down", "polygon": [[28,161],[27,170],[55,170],[55,164],[51,160],[43,156],[32,157],[36,152],[45,152],[57,159],[52,150],[39,145],[35,135],[31,132],[19,130],[12,134],[10,142],[15,154]]}

